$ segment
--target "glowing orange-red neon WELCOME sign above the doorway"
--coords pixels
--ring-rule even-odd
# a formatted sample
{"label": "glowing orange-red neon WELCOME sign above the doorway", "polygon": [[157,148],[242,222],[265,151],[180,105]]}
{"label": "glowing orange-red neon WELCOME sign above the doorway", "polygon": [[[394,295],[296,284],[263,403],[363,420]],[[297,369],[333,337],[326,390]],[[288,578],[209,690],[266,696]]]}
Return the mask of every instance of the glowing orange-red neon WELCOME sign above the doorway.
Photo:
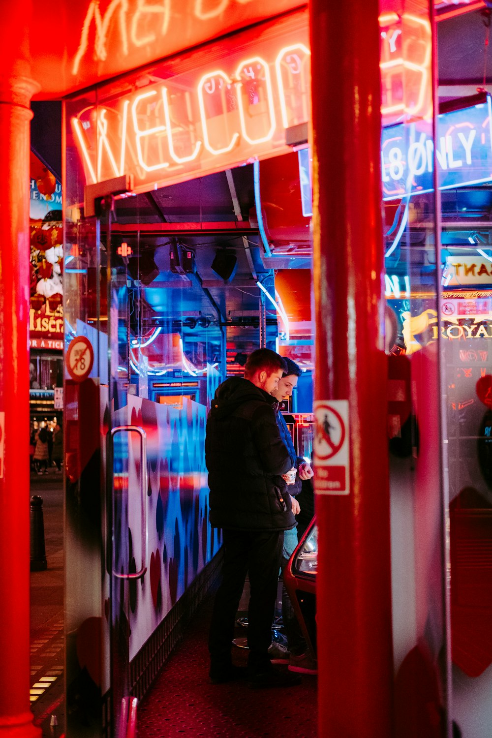
{"label": "glowing orange-red neon WELCOME sign above the doorway", "polygon": [[[242,39],[243,43],[238,43]],[[162,81],[70,118],[86,182],[133,173],[135,189],[172,184],[258,156],[290,151],[285,128],[308,120],[310,56],[305,13],[270,24],[255,40],[222,46],[163,66]],[[100,97],[104,96],[104,90]]]}

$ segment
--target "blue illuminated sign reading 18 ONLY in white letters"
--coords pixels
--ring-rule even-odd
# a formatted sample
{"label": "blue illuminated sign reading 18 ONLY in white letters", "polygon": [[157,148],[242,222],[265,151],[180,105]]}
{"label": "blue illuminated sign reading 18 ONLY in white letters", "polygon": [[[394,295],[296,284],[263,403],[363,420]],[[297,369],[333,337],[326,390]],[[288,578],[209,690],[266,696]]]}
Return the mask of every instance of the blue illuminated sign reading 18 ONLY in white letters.
{"label": "blue illuminated sign reading 18 ONLY in white letters", "polygon": [[[492,180],[491,97],[437,118],[440,190]],[[429,121],[392,125],[381,135],[383,199],[432,192],[434,142]]]}

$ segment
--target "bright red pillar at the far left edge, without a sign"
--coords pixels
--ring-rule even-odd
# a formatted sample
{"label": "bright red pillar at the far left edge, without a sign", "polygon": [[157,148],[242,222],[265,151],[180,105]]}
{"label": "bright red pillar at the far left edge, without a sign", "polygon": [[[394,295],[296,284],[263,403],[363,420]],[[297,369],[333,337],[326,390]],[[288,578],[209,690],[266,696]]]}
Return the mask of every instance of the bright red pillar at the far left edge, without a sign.
{"label": "bright red pillar at the far left edge, without a sign", "polygon": [[0,737],[38,737],[30,711],[29,160],[27,4],[0,43]]}

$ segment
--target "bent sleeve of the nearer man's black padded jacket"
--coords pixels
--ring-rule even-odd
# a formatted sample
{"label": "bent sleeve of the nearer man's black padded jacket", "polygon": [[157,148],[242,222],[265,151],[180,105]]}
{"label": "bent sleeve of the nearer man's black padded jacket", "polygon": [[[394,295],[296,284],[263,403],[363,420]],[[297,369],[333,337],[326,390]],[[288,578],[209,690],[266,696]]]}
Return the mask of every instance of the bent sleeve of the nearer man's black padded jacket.
{"label": "bent sleeve of the nearer man's black padded jacket", "polygon": [[263,471],[268,475],[281,475],[292,469],[296,457],[285,446],[273,407],[259,407],[252,416],[252,437]]}

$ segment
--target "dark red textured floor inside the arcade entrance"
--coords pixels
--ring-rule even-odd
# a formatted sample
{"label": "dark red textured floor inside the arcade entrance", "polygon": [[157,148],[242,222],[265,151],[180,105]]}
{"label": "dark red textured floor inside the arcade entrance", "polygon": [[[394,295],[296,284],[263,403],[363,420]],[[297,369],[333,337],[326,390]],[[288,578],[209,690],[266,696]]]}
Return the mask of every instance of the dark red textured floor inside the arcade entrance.
{"label": "dark red textured floor inside the arcade entrance", "polygon": [[[316,677],[302,675],[302,684],[288,689],[209,684],[211,609],[209,596],[139,705],[139,738],[316,738]],[[245,630],[238,629],[238,635]],[[247,651],[234,648],[232,658],[246,665]]]}

